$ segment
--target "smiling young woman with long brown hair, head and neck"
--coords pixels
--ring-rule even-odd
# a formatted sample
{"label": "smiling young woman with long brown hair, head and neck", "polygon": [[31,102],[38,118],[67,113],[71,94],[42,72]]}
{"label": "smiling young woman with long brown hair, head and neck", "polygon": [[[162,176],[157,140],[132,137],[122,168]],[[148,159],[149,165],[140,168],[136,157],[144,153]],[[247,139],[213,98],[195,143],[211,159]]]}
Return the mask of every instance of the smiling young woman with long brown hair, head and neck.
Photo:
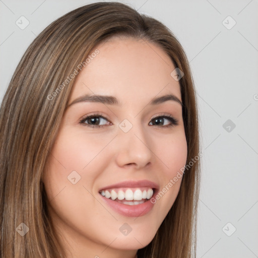
{"label": "smiling young woman with long brown hair, head and neck", "polygon": [[196,97],[162,23],[113,2],[62,16],[0,118],[1,257],[195,257]]}

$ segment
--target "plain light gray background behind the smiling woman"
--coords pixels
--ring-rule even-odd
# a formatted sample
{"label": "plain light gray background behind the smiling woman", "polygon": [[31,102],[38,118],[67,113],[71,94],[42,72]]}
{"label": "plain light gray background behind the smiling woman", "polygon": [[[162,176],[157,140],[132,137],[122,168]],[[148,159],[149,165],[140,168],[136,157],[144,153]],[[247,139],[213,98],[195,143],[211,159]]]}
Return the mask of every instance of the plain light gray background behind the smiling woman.
{"label": "plain light gray background behind the smiling woman", "polygon": [[[94,2],[0,0],[1,100],[31,41],[56,18]],[[190,61],[204,154],[198,257],[258,257],[258,1],[119,2],[167,25]],[[24,30],[16,25],[21,16],[29,21]]]}

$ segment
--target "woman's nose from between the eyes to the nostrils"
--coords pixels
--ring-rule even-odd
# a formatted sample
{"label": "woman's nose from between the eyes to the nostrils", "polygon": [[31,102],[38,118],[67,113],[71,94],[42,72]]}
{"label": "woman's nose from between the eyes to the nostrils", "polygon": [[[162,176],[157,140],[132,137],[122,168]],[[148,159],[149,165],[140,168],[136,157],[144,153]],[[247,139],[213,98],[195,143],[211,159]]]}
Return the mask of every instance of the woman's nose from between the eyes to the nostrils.
{"label": "woman's nose from between the eyes to the nostrils", "polygon": [[116,157],[119,166],[134,163],[140,168],[151,161],[151,142],[141,121],[124,119],[119,124],[117,141],[119,148]]}

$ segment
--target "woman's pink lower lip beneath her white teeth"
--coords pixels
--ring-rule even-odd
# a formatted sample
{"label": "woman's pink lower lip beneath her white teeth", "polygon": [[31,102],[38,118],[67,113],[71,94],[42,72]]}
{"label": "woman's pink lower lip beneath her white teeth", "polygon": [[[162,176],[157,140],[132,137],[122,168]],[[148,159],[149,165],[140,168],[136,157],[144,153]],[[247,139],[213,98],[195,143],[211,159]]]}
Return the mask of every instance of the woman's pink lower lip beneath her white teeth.
{"label": "woman's pink lower lip beneath her white teeth", "polygon": [[[103,199],[103,201],[109,205],[113,210],[118,212],[119,214],[125,216],[125,217],[141,217],[150,212],[154,206],[154,204],[151,203],[151,199],[148,201],[137,204],[137,205],[126,205],[121,204],[116,201],[107,199],[100,195]],[[154,196],[154,195],[153,195]],[[152,197],[153,197],[152,196]]]}

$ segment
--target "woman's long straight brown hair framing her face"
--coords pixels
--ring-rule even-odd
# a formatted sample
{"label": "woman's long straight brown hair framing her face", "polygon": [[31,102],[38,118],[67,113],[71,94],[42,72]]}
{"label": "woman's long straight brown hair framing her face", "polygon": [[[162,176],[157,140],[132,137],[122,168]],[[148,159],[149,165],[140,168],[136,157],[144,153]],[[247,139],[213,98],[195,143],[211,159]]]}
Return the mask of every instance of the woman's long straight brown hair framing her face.
{"label": "woman's long straight brown hair framing her face", "polygon": [[[199,154],[196,95],[188,61],[179,41],[165,25],[115,2],[90,4],[60,17],[28,47],[1,105],[1,258],[65,257],[46,208],[42,183],[74,79],[58,86],[75,70],[80,72],[78,66],[98,43],[115,35],[157,44],[183,71],[179,83],[187,164]],[[184,173],[175,203],[154,239],[138,250],[139,257],[196,256],[199,167],[197,160]],[[19,230],[25,231],[25,225],[29,232],[21,236]]]}

